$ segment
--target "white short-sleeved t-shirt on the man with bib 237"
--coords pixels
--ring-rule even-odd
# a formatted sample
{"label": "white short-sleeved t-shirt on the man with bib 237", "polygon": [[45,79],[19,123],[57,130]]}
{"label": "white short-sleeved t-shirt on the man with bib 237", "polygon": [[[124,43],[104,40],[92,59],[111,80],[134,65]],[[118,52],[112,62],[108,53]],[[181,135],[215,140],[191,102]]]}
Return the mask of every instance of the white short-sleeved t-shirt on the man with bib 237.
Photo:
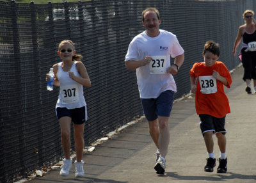
{"label": "white short-sleeved t-shirt on the man with bib 237", "polygon": [[142,99],[156,99],[166,91],[176,92],[176,84],[172,74],[164,72],[170,67],[170,56],[175,58],[184,53],[177,37],[168,31],[160,29],[160,34],[150,37],[146,31],[140,33],[131,41],[125,61],[143,60],[145,56],[152,56],[154,61],[136,69],[140,97]]}

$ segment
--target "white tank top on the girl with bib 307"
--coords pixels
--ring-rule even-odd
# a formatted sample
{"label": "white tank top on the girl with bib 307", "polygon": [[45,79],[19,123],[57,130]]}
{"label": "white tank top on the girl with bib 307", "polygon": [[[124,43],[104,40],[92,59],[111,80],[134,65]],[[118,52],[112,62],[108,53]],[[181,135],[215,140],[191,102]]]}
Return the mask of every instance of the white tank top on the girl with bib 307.
{"label": "white tank top on the girl with bib 307", "polygon": [[[77,72],[76,63],[77,61],[74,61],[70,72],[74,72],[75,76],[81,77]],[[57,77],[60,82],[60,95],[56,108],[67,107],[67,109],[75,109],[86,106],[83,85],[71,79],[68,72],[63,71],[61,65],[62,62],[58,63]]]}

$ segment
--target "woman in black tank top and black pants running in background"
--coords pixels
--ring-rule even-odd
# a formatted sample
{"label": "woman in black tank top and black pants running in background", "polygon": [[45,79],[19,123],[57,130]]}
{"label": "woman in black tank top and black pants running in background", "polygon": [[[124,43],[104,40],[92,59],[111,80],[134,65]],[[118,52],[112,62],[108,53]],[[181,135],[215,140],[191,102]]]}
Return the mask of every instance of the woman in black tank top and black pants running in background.
{"label": "woman in black tank top and black pants running in background", "polygon": [[254,92],[256,93],[256,21],[253,18],[254,12],[246,10],[243,13],[245,24],[239,27],[236,41],[233,48],[233,54],[236,56],[236,48],[242,38],[241,61],[244,67],[243,80],[246,82],[245,91],[250,94],[251,80],[253,79]]}

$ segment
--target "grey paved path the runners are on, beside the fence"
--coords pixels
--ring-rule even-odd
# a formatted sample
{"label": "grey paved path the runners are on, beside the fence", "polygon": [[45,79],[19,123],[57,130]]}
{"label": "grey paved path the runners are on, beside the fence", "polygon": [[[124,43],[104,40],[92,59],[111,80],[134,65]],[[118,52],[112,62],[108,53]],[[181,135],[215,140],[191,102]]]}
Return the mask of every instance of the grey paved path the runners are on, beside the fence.
{"label": "grey paved path the runners are on, beside the fence", "polygon": [[[204,171],[207,152],[202,138],[195,98],[189,97],[173,104],[170,116],[170,146],[166,156],[166,173],[154,170],[156,147],[148,134],[145,118],[127,127],[120,134],[98,145],[84,155],[86,175],[74,178],[74,164],[68,177],[51,170],[44,177],[29,183],[41,182],[256,182],[256,94],[245,92],[243,67],[232,73],[232,86],[227,89],[231,113],[226,118],[227,173]],[[179,90],[179,88],[178,88]],[[214,136],[214,154],[219,156]],[[216,163],[218,166],[218,163]]]}

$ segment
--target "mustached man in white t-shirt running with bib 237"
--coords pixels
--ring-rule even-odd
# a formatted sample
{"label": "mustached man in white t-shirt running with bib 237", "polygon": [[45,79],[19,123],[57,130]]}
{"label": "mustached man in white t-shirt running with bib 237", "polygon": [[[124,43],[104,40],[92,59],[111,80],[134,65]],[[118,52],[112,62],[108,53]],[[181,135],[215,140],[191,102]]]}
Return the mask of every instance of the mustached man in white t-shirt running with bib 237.
{"label": "mustached man in white t-shirt running with bib 237", "polygon": [[[143,113],[157,147],[154,168],[158,174],[163,174],[170,141],[168,120],[176,92],[173,76],[184,62],[184,50],[175,35],[159,29],[160,23],[156,8],[147,8],[142,12],[142,24],[146,30],[131,41],[125,56],[125,67],[136,69]],[[171,56],[175,58],[172,66]]]}

